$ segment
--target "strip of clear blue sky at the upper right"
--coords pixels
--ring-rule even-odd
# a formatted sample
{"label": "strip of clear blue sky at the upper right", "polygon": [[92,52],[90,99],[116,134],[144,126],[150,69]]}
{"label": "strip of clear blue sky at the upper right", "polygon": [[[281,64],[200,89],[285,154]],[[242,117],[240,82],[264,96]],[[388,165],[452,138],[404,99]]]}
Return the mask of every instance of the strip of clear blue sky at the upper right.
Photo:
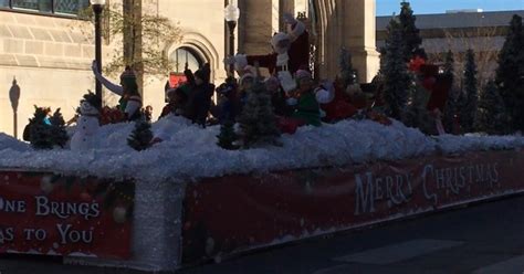
{"label": "strip of clear blue sky at the upper right", "polygon": [[[377,15],[400,11],[401,0],[376,0]],[[524,10],[524,0],[407,0],[415,14],[444,13],[447,10],[482,9],[484,11]]]}

